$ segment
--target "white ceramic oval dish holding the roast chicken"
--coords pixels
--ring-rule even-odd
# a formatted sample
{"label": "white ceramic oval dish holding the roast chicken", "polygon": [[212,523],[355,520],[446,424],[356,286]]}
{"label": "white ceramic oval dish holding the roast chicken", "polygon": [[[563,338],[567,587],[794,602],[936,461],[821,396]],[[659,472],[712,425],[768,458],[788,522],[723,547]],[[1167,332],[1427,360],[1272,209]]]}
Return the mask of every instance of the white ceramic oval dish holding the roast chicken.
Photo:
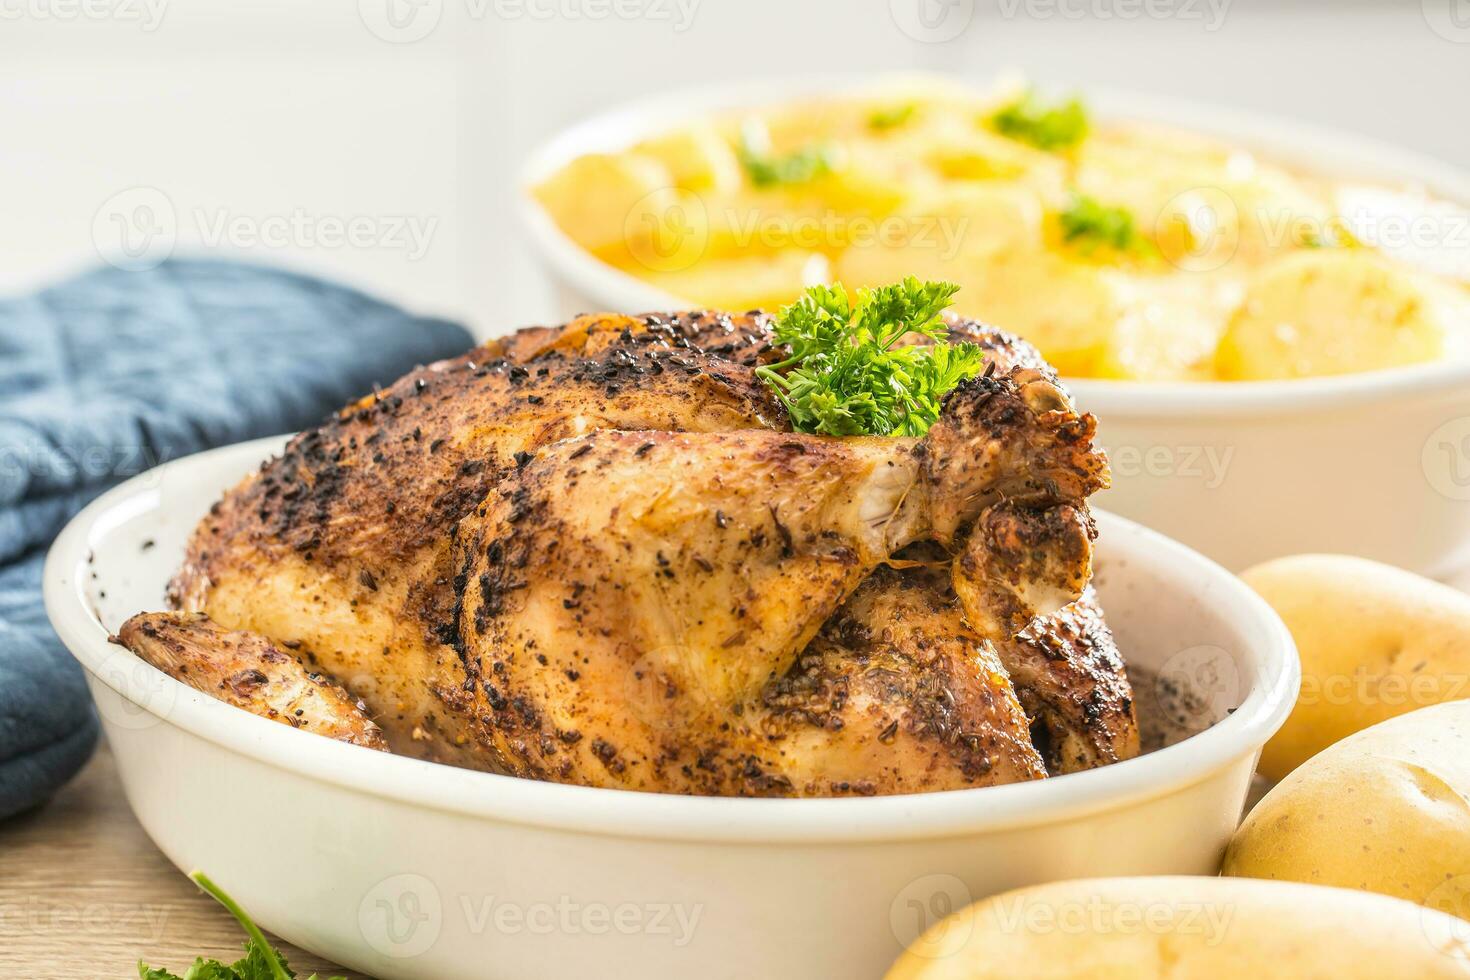
{"label": "white ceramic oval dish holding the roast chicken", "polygon": [[46,605],[88,671],[138,820],[268,929],[379,977],[878,977],[972,898],[1108,874],[1213,874],[1299,667],[1233,576],[1100,514],[1127,660],[1216,723],[1030,785],[872,799],[559,786],[390,757],[201,695],[107,642],[163,604],[194,523],[281,447],[129,480],[56,541]]}

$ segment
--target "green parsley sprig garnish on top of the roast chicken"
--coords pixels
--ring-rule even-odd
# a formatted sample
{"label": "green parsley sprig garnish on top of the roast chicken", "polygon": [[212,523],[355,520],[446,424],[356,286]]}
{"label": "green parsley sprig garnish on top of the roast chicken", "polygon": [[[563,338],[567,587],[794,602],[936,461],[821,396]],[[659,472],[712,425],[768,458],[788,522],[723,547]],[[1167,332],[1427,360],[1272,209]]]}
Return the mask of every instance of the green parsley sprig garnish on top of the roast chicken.
{"label": "green parsley sprig garnish on top of the roast chicken", "polygon": [[[950,344],[939,314],[953,282],[903,282],[858,289],[811,287],[776,317],[791,356],[756,369],[791,414],[797,432],[923,435],[944,397],[985,366],[975,344]],[[907,344],[910,334],[932,344]]]}

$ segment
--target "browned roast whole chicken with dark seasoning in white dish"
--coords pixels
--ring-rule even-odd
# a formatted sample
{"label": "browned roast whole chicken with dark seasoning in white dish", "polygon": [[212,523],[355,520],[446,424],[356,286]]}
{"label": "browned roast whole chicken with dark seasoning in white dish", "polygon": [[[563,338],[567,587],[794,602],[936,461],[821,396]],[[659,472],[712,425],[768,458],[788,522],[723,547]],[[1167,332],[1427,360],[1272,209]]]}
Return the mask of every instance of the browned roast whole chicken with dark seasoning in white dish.
{"label": "browned roast whole chicken with dark seasoning in white dish", "polygon": [[291,439],[118,642],[368,748],[675,793],[1042,779],[1138,752],[1088,586],[1107,482],[1035,350],[922,438],[791,430],[769,317],[584,316]]}

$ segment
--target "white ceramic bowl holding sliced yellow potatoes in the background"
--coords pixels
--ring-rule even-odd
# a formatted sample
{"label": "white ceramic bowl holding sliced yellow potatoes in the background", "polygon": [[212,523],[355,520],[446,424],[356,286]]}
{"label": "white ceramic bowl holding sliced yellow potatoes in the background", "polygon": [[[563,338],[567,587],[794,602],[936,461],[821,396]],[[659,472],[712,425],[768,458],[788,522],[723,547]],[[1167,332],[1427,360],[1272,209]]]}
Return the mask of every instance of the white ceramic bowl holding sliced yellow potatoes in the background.
{"label": "white ceramic bowl holding sliced yellow potatoes in the background", "polygon": [[[692,303],[594,259],[526,188],[584,153],[626,147],[679,120],[861,87],[792,79],[688,91],[588,119],[541,147],[522,173],[522,216],[562,313]],[[1466,173],[1361,137],[1135,94],[1089,91],[1088,101],[1107,119],[1172,123],[1272,160],[1417,182],[1470,204]],[[1067,383],[1101,420],[1113,457],[1113,489],[1098,502],[1230,569],[1305,551],[1358,554],[1430,576],[1470,564],[1470,361],[1285,382]]]}

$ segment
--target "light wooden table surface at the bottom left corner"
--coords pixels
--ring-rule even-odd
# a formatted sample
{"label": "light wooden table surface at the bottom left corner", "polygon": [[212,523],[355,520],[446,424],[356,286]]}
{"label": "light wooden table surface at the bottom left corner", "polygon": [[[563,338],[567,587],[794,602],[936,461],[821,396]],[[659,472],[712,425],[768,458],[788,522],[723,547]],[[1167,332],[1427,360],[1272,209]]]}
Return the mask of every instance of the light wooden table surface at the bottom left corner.
{"label": "light wooden table surface at the bottom left corner", "polygon": [[[140,959],[182,976],[243,940],[134,820],[106,742],[56,799],[0,821],[0,980],[123,980]],[[275,946],[298,977],[362,976]]]}

